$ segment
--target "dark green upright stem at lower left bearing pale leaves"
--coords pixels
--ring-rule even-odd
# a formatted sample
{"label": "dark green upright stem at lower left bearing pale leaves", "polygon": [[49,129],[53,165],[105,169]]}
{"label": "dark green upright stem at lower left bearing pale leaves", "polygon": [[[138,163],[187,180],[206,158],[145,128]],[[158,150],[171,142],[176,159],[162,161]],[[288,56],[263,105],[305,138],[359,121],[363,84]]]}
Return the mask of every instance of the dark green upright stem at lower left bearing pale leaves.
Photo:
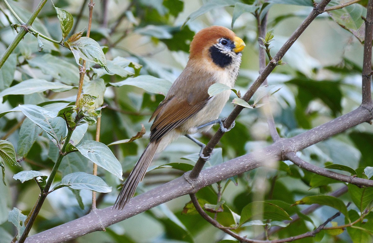
{"label": "dark green upright stem at lower left bearing pale leaves", "polygon": [[26,237],[28,236],[28,233],[30,232],[31,230],[31,227],[32,225],[34,224],[35,222],[35,219],[36,219],[36,216],[39,214],[40,212],[40,209],[41,209],[41,206],[43,205],[44,203],[44,200],[46,199],[47,195],[48,195],[48,192],[49,192],[49,189],[50,189],[50,186],[53,182],[53,179],[54,177],[56,176],[56,173],[57,173],[57,170],[58,170],[58,167],[60,166],[61,164],[61,161],[63,159],[63,153],[65,153],[65,150],[66,150],[66,146],[68,145],[69,141],[70,141],[70,138],[71,138],[71,135],[72,135],[72,132],[73,130],[68,130],[68,134],[66,136],[66,139],[65,139],[65,143],[63,144],[63,147],[57,157],[57,161],[56,163],[54,164],[53,166],[53,169],[52,169],[52,172],[50,173],[50,176],[48,178],[48,181],[47,181],[47,184],[46,184],[46,187],[44,188],[43,190],[43,193],[40,194],[40,197],[39,197],[39,200],[38,202],[36,203],[36,206],[34,207],[33,211],[30,212],[31,216],[29,218],[29,221],[27,222],[26,224],[26,227],[25,227],[25,231],[23,231],[23,234],[21,237],[19,237],[18,239],[18,243],[23,243],[25,242],[26,240]]}

